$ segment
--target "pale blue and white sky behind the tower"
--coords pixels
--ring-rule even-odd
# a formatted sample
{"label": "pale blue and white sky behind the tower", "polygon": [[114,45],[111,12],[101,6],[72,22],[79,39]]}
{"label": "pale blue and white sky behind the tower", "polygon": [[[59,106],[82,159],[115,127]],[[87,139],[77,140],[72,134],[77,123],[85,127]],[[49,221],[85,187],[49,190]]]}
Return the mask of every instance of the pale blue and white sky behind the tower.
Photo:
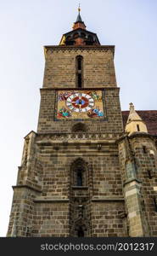
{"label": "pale blue and white sky behind the tower", "polygon": [[76,21],[115,45],[121,109],[157,109],[156,0],[0,0],[0,236],[6,236],[24,137],[36,131],[43,45],[58,45]]}

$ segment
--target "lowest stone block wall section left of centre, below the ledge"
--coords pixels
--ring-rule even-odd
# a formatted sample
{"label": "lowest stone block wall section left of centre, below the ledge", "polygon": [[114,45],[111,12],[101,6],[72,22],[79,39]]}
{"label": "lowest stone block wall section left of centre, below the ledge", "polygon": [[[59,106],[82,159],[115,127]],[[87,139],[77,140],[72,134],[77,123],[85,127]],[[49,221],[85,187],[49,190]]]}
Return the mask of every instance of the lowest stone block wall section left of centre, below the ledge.
{"label": "lowest stone block wall section left of centre, below the ledge", "polygon": [[70,235],[69,203],[37,201],[32,226],[34,237],[66,237]]}

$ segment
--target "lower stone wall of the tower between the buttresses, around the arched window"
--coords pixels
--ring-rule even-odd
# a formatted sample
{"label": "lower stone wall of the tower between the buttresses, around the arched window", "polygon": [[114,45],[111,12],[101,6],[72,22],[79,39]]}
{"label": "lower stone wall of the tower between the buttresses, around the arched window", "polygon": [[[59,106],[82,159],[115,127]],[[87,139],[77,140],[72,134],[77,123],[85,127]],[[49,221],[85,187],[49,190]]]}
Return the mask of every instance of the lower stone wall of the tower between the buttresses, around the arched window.
{"label": "lower stone wall of the tower between the buttresses, around the arched window", "polygon": [[[42,228],[39,231],[35,231],[36,236],[54,236],[54,233],[56,236],[62,236],[62,234],[70,236],[70,233],[68,233],[70,232],[68,220],[70,221],[70,218],[74,218],[75,221],[75,216],[76,218],[79,217],[79,212],[76,212],[75,207],[75,204],[77,206],[77,200],[80,201],[80,204],[83,202],[83,214],[86,217],[88,229],[91,229],[87,230],[87,233],[85,232],[88,234],[87,236],[126,236],[126,226],[121,219],[121,214],[125,215],[125,206],[117,146],[112,143],[103,144],[101,150],[98,151],[98,148],[93,144],[85,143],[79,147],[77,143],[60,143],[56,148],[55,143],[54,146],[50,143],[49,145],[47,143],[46,146],[42,140],[41,143],[38,143],[38,147],[44,173],[42,177],[42,197],[36,199],[36,216],[38,219],[36,218],[35,221],[35,226],[38,225],[39,227],[39,224],[42,224]],[[54,150],[54,148],[57,150]],[[70,166],[78,158],[81,158],[87,163],[87,166],[90,166],[92,180],[87,183],[87,188],[78,189],[74,187],[72,194],[70,194],[72,175]],[[64,205],[64,200],[70,200],[71,195],[74,196],[71,201],[74,206],[70,208],[74,213],[69,215],[69,203],[67,202],[64,209],[62,209],[62,204]],[[44,198],[52,201],[52,204],[48,203],[46,206],[43,202]],[[74,201],[74,199],[76,200]],[[54,207],[53,201],[59,200],[63,202],[60,204],[59,202],[55,203],[56,207]],[[88,213],[89,211],[90,213]],[[66,217],[64,223],[61,222],[61,232],[56,230],[56,227],[59,219],[63,218],[63,214]],[[92,216],[91,219],[89,216]],[[72,224],[74,223],[72,222]],[[69,231],[67,230],[68,224]]]}

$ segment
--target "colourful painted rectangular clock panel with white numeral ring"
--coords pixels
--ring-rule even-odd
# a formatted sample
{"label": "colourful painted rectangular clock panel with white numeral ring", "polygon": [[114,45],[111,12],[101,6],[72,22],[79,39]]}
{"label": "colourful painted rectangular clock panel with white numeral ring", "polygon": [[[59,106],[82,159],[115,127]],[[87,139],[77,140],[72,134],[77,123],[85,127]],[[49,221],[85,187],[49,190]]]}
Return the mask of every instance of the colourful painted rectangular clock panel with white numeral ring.
{"label": "colourful painted rectangular clock panel with white numeral ring", "polygon": [[56,119],[102,119],[102,90],[59,90]]}

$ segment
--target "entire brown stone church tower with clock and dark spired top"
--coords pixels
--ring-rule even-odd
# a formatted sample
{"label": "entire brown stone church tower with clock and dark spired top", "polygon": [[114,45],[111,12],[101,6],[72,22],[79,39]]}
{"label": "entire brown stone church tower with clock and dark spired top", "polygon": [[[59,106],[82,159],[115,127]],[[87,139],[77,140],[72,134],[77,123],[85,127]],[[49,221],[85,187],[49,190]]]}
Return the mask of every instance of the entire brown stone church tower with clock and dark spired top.
{"label": "entire brown stone church tower with clock and dark spired top", "polygon": [[38,127],[25,137],[7,236],[157,236],[156,137],[137,123],[124,131],[115,47],[87,31],[79,9],[44,50]]}

